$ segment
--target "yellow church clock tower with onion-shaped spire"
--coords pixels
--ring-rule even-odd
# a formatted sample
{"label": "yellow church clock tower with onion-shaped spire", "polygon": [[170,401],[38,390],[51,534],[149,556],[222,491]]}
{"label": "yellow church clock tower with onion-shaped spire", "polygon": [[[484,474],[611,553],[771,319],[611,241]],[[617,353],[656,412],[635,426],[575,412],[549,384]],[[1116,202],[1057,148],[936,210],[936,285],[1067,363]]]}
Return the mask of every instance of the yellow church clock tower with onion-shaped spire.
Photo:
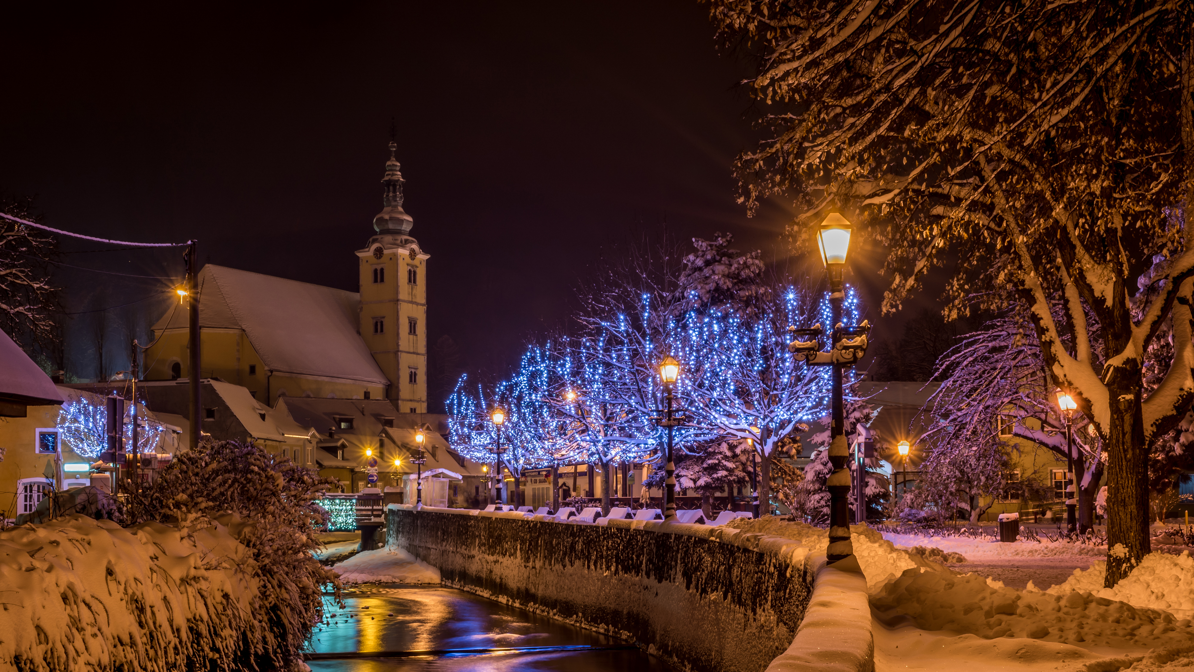
{"label": "yellow church clock tower with onion-shaped spire", "polygon": [[387,396],[401,413],[427,411],[427,258],[411,238],[402,209],[402,173],[389,143],[382,178],[384,207],[361,258],[361,337],[389,379]]}

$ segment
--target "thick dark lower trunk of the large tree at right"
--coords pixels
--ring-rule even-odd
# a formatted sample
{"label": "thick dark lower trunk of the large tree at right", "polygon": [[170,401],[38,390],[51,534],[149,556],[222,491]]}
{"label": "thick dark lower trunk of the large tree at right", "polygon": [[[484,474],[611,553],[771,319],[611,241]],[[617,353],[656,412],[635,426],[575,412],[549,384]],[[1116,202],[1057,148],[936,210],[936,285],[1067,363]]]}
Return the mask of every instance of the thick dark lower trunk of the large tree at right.
{"label": "thick dark lower trunk of the large tree at right", "polygon": [[1144,442],[1140,391],[1108,385],[1107,578],[1114,587],[1149,554],[1149,450]]}

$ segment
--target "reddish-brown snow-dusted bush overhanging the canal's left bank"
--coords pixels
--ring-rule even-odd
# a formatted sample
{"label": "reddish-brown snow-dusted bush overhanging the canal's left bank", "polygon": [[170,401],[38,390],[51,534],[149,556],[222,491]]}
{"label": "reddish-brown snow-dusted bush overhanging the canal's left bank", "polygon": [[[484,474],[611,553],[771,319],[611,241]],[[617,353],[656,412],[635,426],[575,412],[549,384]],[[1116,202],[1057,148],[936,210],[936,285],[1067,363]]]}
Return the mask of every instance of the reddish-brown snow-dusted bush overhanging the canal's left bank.
{"label": "reddish-brown snow-dusted bush overhanging the canal's left bank", "polygon": [[253,444],[211,441],[176,456],[129,514],[134,523],[167,524],[226,512],[240,517],[244,529],[235,532],[253,560],[244,570],[259,586],[256,611],[270,625],[254,648],[284,667],[322,619],[324,586],[331,584],[339,598],[336,574],[312,554],[320,546],[315,534],[324,518],[315,500],[334,484]]}

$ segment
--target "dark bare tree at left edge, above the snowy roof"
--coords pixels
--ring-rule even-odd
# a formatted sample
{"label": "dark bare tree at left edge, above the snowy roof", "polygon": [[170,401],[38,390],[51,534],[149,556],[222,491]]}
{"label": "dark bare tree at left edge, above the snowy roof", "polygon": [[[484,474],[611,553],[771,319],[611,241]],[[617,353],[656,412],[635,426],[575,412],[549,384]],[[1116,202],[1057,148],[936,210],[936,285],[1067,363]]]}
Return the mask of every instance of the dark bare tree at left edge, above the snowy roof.
{"label": "dark bare tree at left edge, above the snowy roof", "polygon": [[[30,198],[0,197],[0,212],[14,218],[37,221],[31,208]],[[57,249],[49,233],[0,218],[0,329],[30,353],[57,353],[62,341],[51,314],[59,289],[50,282],[48,263]]]}

